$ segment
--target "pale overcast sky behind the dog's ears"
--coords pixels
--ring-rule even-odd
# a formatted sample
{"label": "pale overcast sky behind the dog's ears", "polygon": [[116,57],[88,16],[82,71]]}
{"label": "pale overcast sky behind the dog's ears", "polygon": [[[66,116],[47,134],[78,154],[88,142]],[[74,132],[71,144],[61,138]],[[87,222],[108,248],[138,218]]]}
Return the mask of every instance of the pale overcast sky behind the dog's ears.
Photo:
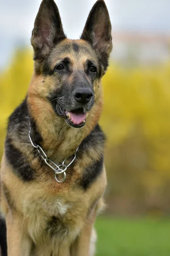
{"label": "pale overcast sky behind the dog's ears", "polygon": [[[55,0],[68,38],[79,38],[96,0]],[[170,0],[105,0],[113,30],[170,34]],[[29,45],[41,0],[0,0],[0,68]],[[114,40],[114,39],[113,39]]]}

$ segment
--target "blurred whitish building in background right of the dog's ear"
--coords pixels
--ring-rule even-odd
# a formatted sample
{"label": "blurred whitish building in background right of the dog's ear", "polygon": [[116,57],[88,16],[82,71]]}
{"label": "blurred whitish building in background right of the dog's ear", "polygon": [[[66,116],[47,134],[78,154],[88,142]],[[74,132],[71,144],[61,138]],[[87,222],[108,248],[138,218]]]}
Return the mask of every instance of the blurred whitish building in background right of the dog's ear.
{"label": "blurred whitish building in background right of the dog's ear", "polygon": [[170,61],[170,35],[113,32],[112,57],[124,66]]}

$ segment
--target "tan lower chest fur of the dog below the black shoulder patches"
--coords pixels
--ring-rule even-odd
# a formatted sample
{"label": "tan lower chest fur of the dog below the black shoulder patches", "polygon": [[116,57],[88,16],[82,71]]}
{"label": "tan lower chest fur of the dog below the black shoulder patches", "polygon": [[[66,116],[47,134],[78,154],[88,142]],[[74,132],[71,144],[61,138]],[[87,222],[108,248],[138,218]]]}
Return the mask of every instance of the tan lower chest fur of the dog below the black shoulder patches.
{"label": "tan lower chest fur of the dog below the black shoulder patches", "polygon": [[[85,192],[74,183],[69,185],[54,182],[29,184],[17,181],[11,174],[13,207],[22,212],[23,225],[35,244],[62,243],[75,240],[85,219],[97,207],[105,189],[105,173],[97,177],[94,186]],[[69,242],[68,242],[69,244]]]}

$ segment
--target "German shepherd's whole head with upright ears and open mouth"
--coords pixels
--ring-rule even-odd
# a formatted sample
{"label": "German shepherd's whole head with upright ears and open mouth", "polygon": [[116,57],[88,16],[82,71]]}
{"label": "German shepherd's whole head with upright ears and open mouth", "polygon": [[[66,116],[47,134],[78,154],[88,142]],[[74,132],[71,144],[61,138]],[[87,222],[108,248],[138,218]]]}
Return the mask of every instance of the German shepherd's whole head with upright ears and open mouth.
{"label": "German shepherd's whole head with upright ears and open mouth", "polygon": [[96,2],[81,38],[69,40],[54,0],[43,0],[31,44],[35,73],[41,77],[34,93],[47,99],[57,116],[68,125],[81,128],[88,113],[99,104],[100,79],[108,67],[112,49],[111,22],[105,2]]}

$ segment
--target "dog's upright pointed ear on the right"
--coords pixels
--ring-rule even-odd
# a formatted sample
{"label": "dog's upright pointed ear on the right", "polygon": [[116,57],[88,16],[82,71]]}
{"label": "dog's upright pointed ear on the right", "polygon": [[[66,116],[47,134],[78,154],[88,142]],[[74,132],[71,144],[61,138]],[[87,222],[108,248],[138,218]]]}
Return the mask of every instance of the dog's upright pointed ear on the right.
{"label": "dog's upright pointed ear on the right", "polygon": [[93,45],[106,70],[112,49],[112,36],[111,21],[104,0],[98,0],[91,9],[81,39]]}

